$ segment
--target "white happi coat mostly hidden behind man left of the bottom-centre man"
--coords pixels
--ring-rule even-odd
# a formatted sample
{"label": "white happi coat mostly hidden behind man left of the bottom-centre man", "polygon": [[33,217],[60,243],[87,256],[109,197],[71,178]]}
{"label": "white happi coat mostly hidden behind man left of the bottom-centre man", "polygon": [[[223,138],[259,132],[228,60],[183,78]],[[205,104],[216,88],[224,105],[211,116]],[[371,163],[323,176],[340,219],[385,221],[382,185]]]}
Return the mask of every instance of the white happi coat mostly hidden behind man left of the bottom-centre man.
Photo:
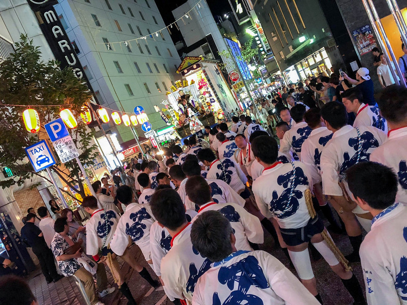
{"label": "white happi coat mostly hidden behind man left of the bottom-centre man", "polygon": [[[191,222],[197,214],[196,211],[186,210],[187,221]],[[171,239],[168,230],[162,227],[158,221],[152,224],[150,228],[150,249],[153,268],[157,277],[161,277],[161,260],[171,249]]]}

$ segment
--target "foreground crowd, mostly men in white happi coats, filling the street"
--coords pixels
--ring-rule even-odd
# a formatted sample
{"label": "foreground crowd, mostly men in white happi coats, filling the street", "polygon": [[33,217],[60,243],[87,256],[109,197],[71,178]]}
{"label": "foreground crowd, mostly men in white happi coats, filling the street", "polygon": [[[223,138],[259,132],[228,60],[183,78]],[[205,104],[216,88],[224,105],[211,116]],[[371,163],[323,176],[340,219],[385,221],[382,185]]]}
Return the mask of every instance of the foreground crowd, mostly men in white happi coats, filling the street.
{"label": "foreground crowd, mostly men in white happi coats, filling the street", "polygon": [[[117,256],[159,286],[130,255],[132,243],[175,304],[322,304],[308,248],[330,265],[354,304],[365,297],[369,305],[406,304],[406,96],[392,85],[378,107],[364,104],[356,88],[322,107],[290,100],[279,111],[276,137],[244,115],[230,130],[207,126],[207,140],[192,135],[184,148],[135,162],[134,186],[94,182],[97,197],[82,202],[91,215],[85,253],[83,237],[70,232],[72,219],[47,220],[46,209],[37,211],[41,229],[30,213],[21,234],[41,246],[33,250],[47,282],[60,278],[53,254],[64,276],[84,283],[92,305],[114,290],[105,265],[128,304],[136,304]],[[348,113],[356,116],[352,125]],[[299,279],[258,250],[264,230]],[[343,256],[329,231],[347,234],[353,252]],[[361,262],[365,293],[354,262]]]}

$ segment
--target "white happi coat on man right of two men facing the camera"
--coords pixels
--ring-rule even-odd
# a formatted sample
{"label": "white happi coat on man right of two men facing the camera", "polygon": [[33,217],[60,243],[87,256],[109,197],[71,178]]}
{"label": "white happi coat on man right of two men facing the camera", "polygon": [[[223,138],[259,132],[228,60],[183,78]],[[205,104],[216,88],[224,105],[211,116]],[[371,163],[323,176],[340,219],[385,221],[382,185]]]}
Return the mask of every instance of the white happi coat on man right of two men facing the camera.
{"label": "white happi coat on man right of two men facing the camera", "polygon": [[301,145],[311,133],[311,128],[305,122],[297,123],[288,130],[280,141],[280,153],[289,155],[290,149],[293,149],[295,160],[301,159]]}

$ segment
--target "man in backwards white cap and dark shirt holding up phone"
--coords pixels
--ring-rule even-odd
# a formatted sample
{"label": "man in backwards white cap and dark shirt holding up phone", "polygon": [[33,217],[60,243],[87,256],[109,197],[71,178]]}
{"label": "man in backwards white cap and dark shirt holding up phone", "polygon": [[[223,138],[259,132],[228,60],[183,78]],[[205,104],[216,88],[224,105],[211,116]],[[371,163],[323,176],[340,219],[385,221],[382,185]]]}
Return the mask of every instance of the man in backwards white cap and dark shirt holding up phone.
{"label": "man in backwards white cap and dark shirt holding up phone", "polygon": [[343,79],[347,79],[348,82],[356,85],[356,87],[362,92],[363,101],[365,102],[365,104],[368,104],[370,106],[376,105],[376,101],[374,100],[373,96],[373,81],[370,79],[369,69],[363,67],[359,68],[359,70],[356,72],[356,79],[350,78],[349,76],[347,76],[346,73],[343,72],[339,80],[340,83],[342,83],[343,88],[347,90],[349,89],[349,87],[345,84],[345,82],[343,82]]}

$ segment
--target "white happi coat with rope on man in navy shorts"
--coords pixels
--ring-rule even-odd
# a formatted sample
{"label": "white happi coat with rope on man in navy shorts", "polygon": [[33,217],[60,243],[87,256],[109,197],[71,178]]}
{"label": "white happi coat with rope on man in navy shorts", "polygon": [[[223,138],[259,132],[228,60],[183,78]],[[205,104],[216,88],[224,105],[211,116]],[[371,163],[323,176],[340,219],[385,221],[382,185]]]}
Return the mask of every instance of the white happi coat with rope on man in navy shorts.
{"label": "white happi coat with rope on man in navy shorts", "polygon": [[[295,179],[290,180],[295,166]],[[312,191],[312,178],[301,162],[276,162],[265,168],[253,182],[253,193],[261,214],[275,217],[283,229],[298,229],[307,225],[310,216],[304,192]],[[293,183],[292,183],[293,182]],[[293,194],[289,199],[290,194]]]}

